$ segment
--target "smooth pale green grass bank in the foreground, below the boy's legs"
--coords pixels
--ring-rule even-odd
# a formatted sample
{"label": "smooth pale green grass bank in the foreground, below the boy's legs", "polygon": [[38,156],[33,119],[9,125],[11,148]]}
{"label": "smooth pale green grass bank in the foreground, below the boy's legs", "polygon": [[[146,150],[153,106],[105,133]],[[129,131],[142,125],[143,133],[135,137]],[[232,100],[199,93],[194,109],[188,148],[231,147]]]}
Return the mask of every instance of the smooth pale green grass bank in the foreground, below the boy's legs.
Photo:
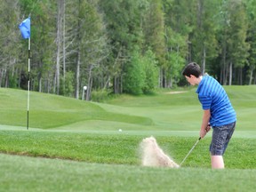
{"label": "smooth pale green grass bank in the foreground, below the boy's legs", "polygon": [[1,191],[253,191],[255,170],[88,164],[0,154]]}

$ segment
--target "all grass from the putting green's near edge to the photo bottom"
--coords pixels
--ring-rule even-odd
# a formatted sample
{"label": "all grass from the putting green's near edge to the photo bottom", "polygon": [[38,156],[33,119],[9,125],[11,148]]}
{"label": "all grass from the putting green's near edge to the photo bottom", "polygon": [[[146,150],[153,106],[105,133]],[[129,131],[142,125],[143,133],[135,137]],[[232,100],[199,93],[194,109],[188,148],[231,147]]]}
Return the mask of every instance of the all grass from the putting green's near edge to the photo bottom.
{"label": "all grass from the putting green's near edge to the photo bottom", "polygon": [[[140,166],[139,143],[144,137],[123,133],[1,131],[0,151],[9,154],[0,154],[1,190],[254,190],[255,138],[233,138],[224,156],[227,169],[212,171],[208,156],[209,137],[197,144],[180,169]],[[187,155],[196,139],[156,137],[161,148],[177,163]]]}

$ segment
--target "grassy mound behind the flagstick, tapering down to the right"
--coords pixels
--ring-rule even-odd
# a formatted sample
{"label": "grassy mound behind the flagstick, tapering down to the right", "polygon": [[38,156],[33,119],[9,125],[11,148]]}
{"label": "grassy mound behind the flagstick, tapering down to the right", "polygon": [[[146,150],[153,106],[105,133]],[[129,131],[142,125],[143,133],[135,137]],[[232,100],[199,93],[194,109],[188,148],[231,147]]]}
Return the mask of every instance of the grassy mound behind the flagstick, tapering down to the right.
{"label": "grassy mound behind the flagstick, tapering down to the right", "polygon": [[[106,112],[98,105],[82,100],[39,92],[31,92],[30,99],[29,126],[34,128],[49,129],[90,120],[152,124],[148,117]],[[26,126],[27,92],[0,88],[0,116],[0,124]]]}

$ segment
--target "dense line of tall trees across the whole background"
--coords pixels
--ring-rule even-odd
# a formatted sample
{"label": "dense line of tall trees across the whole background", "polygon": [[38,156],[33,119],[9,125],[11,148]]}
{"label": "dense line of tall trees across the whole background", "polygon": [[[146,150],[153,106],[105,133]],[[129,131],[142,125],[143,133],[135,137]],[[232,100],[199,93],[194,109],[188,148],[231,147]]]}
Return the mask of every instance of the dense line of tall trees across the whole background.
{"label": "dense line of tall trees across the whole background", "polygon": [[[28,41],[20,22],[31,18]],[[85,99],[182,86],[191,61],[220,84],[256,84],[254,0],[2,0],[0,86]]]}

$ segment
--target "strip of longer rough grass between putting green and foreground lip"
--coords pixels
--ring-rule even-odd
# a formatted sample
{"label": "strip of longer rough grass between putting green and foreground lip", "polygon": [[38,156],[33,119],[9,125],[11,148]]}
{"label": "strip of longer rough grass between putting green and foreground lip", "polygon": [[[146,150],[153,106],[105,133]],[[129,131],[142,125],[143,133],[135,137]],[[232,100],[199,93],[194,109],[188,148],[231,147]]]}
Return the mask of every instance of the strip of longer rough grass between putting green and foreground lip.
{"label": "strip of longer rough grass between putting green and foreground lip", "polygon": [[[149,135],[150,136],[150,135]],[[4,153],[73,159],[101,164],[140,165],[143,135],[93,134],[82,132],[2,131],[0,151]],[[195,144],[196,137],[157,136],[164,151],[179,164]],[[234,138],[225,156],[227,168],[255,169],[255,138]],[[210,137],[201,140],[183,166],[210,168]],[[250,152],[250,153],[249,153]]]}

